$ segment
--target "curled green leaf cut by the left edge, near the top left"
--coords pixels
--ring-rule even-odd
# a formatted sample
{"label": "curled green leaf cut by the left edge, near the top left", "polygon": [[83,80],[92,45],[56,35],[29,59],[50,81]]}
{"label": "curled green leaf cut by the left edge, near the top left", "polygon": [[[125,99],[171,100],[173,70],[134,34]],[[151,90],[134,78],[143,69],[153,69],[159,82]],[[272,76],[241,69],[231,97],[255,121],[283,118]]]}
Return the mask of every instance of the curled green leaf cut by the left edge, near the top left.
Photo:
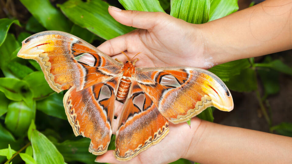
{"label": "curled green leaf cut by the left edge, near the top left", "polygon": [[6,36],[7,36],[7,32],[9,30],[10,26],[12,25],[12,23],[15,23],[18,26],[20,26],[20,23],[18,20],[12,20],[12,19],[8,19],[8,18],[0,19],[0,46],[5,41]]}

